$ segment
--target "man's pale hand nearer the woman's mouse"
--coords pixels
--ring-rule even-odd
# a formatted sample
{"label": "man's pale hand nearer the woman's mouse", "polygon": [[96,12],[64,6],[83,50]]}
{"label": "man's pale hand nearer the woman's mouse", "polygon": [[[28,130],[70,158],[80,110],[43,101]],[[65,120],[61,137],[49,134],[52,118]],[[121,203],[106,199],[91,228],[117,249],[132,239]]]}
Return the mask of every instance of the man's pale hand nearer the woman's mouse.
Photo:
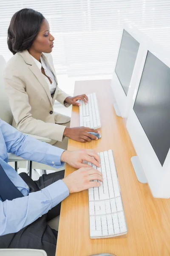
{"label": "man's pale hand nearer the woman's mouse", "polygon": [[90,167],[88,164],[83,163],[83,161],[93,163],[95,166],[100,167],[99,155],[92,149],[64,151],[61,155],[61,162],[68,163],[77,169],[81,167]]}

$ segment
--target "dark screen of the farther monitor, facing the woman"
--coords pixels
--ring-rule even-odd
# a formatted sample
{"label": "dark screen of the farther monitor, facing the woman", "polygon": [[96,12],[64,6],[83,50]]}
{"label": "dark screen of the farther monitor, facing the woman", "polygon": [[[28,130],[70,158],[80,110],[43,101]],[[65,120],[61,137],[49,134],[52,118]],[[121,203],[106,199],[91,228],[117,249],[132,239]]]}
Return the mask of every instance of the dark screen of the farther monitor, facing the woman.
{"label": "dark screen of the farther monitor, facing the woman", "polygon": [[117,58],[115,72],[125,91],[129,89],[130,80],[138,54],[139,43],[124,29]]}

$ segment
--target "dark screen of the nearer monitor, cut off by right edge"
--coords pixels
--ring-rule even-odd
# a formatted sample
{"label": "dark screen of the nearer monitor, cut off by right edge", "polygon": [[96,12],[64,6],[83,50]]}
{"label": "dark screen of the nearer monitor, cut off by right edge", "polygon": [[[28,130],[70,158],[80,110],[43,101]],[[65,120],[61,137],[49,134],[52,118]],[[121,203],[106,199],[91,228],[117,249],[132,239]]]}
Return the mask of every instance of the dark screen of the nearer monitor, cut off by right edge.
{"label": "dark screen of the nearer monitor, cut off by right edge", "polygon": [[170,68],[149,51],[133,110],[163,166],[170,148]]}

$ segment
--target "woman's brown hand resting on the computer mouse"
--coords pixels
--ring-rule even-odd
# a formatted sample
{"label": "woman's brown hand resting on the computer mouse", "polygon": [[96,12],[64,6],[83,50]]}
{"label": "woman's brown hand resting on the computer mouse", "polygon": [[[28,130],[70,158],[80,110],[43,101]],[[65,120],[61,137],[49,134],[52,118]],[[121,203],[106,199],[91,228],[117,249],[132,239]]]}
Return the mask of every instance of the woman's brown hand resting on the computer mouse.
{"label": "woman's brown hand resting on the computer mouse", "polygon": [[76,140],[84,143],[87,141],[91,142],[91,139],[98,140],[96,136],[89,134],[88,131],[100,133],[99,131],[88,128],[88,127],[74,127],[74,128],[66,127],[63,135],[72,140]]}

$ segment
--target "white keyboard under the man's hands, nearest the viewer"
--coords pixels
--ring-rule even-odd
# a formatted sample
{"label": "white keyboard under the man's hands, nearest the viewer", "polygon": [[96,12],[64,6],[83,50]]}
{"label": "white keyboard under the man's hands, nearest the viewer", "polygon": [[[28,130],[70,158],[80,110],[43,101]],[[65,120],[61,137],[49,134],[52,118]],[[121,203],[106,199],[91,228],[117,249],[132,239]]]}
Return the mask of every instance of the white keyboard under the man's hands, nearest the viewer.
{"label": "white keyboard under the man's hands, nearest the viewer", "polygon": [[112,150],[99,153],[103,182],[100,187],[88,189],[90,237],[109,238],[127,234],[119,181]]}

